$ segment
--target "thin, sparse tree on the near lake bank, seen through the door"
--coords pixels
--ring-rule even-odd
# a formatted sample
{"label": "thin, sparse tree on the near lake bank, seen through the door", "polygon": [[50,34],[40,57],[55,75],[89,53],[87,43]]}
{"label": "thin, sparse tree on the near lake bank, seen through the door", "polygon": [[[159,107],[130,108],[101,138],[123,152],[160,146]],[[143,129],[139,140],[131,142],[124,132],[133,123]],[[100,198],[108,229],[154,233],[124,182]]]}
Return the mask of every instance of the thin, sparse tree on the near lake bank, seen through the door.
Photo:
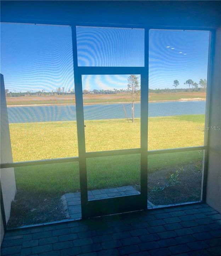
{"label": "thin, sparse tree on the near lake bank, seen through the door", "polygon": [[131,93],[132,97],[132,122],[134,122],[134,102],[140,93],[140,83],[138,81],[138,76],[130,75],[128,78],[128,91]]}

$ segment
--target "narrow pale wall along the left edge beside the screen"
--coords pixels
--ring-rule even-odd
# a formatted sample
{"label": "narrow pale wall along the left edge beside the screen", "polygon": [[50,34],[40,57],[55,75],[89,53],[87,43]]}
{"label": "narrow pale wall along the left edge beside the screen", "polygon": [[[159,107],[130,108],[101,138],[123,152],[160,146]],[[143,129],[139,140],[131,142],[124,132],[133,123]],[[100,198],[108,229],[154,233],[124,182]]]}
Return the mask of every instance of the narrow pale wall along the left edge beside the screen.
{"label": "narrow pale wall along the left edge beside the screen", "polygon": [[[12,150],[11,150],[10,131],[9,131],[9,125],[8,125],[8,113],[7,113],[7,105],[6,105],[4,79],[2,74],[0,74],[0,76],[1,76],[0,77],[1,79],[0,162],[1,164],[3,164],[8,162],[13,162],[13,159],[12,159]],[[5,208],[5,218],[7,222],[8,219],[10,218],[11,202],[15,198],[15,193],[16,193],[14,168],[1,169],[0,178],[1,178],[2,197],[4,202],[4,208]],[[1,217],[2,217],[2,214],[1,214]]]}

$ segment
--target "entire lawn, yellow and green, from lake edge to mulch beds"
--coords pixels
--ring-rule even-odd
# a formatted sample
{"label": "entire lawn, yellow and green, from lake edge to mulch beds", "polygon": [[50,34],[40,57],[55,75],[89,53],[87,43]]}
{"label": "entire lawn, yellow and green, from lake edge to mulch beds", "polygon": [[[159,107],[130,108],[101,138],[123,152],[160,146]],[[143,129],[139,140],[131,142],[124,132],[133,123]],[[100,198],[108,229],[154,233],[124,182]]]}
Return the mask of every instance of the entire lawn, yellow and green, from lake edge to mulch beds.
{"label": "entire lawn, yellow and green, from lake edge to mulch beds", "polygon": [[[204,115],[149,118],[148,149],[203,145]],[[140,147],[140,119],[85,121],[87,151]],[[14,161],[66,158],[78,155],[76,122],[10,124]],[[198,151],[150,155],[148,172],[198,164]],[[15,168],[17,188],[38,193],[62,194],[79,190],[77,162]],[[140,155],[87,159],[89,190],[124,185],[139,185]]]}

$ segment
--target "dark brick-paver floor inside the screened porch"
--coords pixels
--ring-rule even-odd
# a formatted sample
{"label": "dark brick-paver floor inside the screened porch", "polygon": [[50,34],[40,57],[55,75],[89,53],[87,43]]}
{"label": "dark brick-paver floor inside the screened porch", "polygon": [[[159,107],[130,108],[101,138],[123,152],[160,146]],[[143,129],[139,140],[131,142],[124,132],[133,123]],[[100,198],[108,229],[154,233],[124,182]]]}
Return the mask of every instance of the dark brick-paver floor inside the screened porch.
{"label": "dark brick-paver floor inside the screened porch", "polygon": [[7,231],[1,256],[221,255],[221,214],[194,204]]}

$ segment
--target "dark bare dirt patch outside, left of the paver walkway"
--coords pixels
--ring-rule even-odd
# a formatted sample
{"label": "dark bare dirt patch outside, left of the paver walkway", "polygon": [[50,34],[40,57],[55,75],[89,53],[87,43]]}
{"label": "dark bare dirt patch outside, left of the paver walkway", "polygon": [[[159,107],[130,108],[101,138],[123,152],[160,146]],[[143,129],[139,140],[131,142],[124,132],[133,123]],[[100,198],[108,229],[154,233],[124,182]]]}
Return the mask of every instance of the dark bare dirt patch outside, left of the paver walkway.
{"label": "dark bare dirt patch outside, left of the paver walkway", "polygon": [[66,219],[61,196],[17,190],[8,226],[23,226]]}

